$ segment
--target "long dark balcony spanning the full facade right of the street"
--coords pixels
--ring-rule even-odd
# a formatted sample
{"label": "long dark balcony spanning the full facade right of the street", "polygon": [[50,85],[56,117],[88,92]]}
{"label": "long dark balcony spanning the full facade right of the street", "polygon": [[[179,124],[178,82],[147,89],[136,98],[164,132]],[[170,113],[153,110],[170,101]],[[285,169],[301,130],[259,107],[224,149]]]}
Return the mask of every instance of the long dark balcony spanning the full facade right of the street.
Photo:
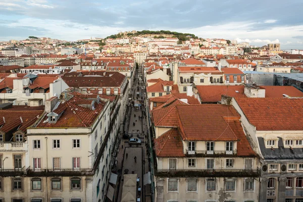
{"label": "long dark balcony spanning the full facade right of the street", "polygon": [[248,169],[174,169],[155,170],[157,177],[260,177],[261,171]]}

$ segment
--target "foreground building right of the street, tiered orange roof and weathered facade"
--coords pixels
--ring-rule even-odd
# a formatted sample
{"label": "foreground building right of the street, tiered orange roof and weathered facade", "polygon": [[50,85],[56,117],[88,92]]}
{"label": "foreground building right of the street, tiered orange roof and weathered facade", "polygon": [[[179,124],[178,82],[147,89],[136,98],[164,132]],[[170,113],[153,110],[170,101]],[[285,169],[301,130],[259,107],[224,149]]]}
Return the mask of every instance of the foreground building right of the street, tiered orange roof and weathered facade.
{"label": "foreground building right of the street, tiered orange roof and weathered facade", "polygon": [[151,113],[157,201],[259,201],[259,157],[232,106],[174,105]]}

